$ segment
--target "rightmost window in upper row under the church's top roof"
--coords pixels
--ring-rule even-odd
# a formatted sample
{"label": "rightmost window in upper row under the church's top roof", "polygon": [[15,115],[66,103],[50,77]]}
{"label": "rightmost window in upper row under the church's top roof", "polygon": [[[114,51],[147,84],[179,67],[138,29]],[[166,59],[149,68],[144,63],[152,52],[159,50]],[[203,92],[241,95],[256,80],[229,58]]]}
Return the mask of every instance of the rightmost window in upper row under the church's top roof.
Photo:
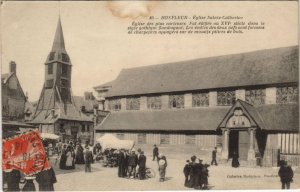
{"label": "rightmost window in upper row under the church's top roof", "polygon": [[295,103],[298,102],[298,98],[299,90],[297,86],[276,88],[277,103]]}

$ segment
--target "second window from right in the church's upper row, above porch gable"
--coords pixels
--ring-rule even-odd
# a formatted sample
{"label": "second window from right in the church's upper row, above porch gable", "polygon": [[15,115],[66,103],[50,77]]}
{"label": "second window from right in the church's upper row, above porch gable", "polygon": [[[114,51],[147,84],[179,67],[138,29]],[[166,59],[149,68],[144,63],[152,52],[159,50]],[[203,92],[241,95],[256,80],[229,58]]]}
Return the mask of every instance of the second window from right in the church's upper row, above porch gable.
{"label": "second window from right in the church's upper row, above porch gable", "polygon": [[265,104],[266,89],[252,89],[246,90],[246,102],[252,105]]}

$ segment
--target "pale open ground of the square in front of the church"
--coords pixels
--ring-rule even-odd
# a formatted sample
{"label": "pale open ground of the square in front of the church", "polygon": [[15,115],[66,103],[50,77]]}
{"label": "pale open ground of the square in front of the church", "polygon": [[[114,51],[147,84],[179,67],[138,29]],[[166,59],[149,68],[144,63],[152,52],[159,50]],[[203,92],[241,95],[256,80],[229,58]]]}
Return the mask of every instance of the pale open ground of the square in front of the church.
{"label": "pale open ground of the square in front of the church", "polygon": [[[138,147],[138,146],[136,146]],[[185,161],[192,155],[193,150],[173,151],[160,147],[160,151],[167,156],[168,167],[166,181],[159,182],[157,162],[152,161],[151,149],[144,148],[147,156],[147,167],[156,171],[156,177],[147,180],[135,180],[119,178],[117,168],[103,167],[102,163],[92,164],[92,172],[85,173],[84,165],[76,165],[75,170],[60,170],[59,163],[55,165],[55,157],[51,158],[51,164],[55,169],[57,183],[54,185],[58,191],[106,191],[106,190],[191,190],[184,187],[183,167]],[[204,163],[210,162],[210,151],[194,153]],[[239,167],[232,168],[230,163],[209,167],[209,189],[280,189],[281,183],[278,177],[278,167]],[[291,189],[300,188],[299,168],[293,167],[294,182]]]}

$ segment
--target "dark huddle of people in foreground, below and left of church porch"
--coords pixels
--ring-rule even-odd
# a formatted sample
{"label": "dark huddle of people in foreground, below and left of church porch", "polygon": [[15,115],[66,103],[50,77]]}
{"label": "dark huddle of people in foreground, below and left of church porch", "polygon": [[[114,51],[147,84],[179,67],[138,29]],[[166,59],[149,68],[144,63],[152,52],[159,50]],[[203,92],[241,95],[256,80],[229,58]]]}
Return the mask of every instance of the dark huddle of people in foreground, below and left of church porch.
{"label": "dark huddle of people in foreground, below and left of church porch", "polygon": [[202,164],[201,159],[196,156],[187,160],[183,168],[185,176],[184,186],[194,189],[208,189],[208,164]]}

